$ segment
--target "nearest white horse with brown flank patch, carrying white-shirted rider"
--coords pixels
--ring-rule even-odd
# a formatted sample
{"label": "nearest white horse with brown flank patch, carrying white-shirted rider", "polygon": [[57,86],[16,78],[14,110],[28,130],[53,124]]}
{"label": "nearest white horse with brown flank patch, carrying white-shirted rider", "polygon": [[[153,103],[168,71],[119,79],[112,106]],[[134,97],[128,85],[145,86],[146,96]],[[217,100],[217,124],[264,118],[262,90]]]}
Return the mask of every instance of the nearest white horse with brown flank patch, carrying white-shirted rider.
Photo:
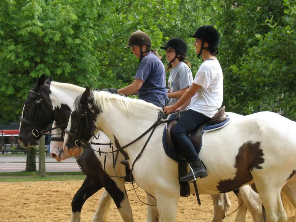
{"label": "nearest white horse with brown flank patch, carrying white-shirted rider", "polygon": [[[161,108],[137,99],[125,98],[88,88],[75,100],[67,126],[64,152],[75,149],[75,141],[88,141],[103,131],[116,147],[125,146],[156,121]],[[87,115],[85,115],[87,114]],[[84,118],[80,123],[81,116]],[[86,118],[85,118],[86,117]],[[88,127],[88,130],[86,128]],[[281,189],[296,169],[296,123],[272,112],[235,116],[224,128],[207,133],[199,154],[207,166],[208,176],[197,180],[201,194],[230,192],[255,182],[266,210],[268,222],[294,221],[288,218],[281,200]],[[133,177],[145,192],[157,200],[161,221],[175,221],[180,185],[178,164],[164,152],[164,123],[155,128],[139,159],[150,132],[126,147]],[[79,133],[73,133],[78,131]],[[74,135],[74,136],[73,136]],[[72,151],[71,151],[72,152]],[[292,181],[289,200],[295,204]],[[190,192],[194,193],[190,184]],[[290,195],[289,195],[290,194]]]}

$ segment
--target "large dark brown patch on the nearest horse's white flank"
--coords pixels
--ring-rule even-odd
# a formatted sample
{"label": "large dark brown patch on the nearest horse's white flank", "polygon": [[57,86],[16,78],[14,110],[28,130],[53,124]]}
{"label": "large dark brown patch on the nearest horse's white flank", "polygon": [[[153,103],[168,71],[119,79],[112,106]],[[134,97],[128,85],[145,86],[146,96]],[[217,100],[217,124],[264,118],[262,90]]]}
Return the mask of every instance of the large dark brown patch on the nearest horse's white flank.
{"label": "large dark brown patch on the nearest horse's white flank", "polygon": [[235,157],[234,167],[237,168],[235,177],[219,181],[217,189],[221,193],[226,193],[250,182],[253,179],[251,171],[254,168],[262,169],[262,166],[260,166],[262,163],[264,163],[264,159],[263,150],[260,149],[260,142],[245,142],[239,147],[239,152]]}

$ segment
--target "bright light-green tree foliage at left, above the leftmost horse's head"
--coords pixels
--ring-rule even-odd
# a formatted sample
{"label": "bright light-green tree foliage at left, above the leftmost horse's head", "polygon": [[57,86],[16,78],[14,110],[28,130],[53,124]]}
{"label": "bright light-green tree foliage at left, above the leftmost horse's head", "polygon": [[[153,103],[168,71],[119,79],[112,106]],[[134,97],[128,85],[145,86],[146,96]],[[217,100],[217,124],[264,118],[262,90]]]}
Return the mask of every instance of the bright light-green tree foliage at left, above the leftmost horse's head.
{"label": "bright light-green tree foliage at left, above the leftmost horse's head", "polygon": [[[99,75],[96,49],[108,29],[100,1],[11,0],[0,5],[0,97],[20,115],[20,103],[42,74],[91,85]],[[20,101],[20,102],[18,102]],[[4,110],[6,112],[7,110]],[[5,115],[2,114],[1,115]]]}

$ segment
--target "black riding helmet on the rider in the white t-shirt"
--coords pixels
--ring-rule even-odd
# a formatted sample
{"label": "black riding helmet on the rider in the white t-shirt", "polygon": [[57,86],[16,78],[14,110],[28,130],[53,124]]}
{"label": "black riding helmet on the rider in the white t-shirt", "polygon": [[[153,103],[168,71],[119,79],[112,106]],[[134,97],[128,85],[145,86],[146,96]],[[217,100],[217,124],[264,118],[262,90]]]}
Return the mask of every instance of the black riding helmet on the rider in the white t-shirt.
{"label": "black riding helmet on the rider in the white t-shirt", "polygon": [[200,28],[196,30],[193,36],[190,36],[193,38],[200,38],[202,40],[202,47],[200,49],[200,53],[197,55],[197,57],[200,57],[202,54],[203,44],[207,42],[209,46],[206,50],[213,53],[215,52],[218,54],[218,46],[220,43],[220,34],[219,32],[212,26],[212,25],[203,25]]}

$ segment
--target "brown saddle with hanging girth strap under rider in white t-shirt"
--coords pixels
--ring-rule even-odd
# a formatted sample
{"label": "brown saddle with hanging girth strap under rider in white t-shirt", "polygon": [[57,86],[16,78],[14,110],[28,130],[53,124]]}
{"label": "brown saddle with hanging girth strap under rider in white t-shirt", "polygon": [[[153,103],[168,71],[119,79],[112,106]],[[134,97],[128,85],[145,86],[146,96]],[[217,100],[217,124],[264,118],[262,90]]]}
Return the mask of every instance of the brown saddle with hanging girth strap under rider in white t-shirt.
{"label": "brown saddle with hanging girth strap under rider in white t-shirt", "polygon": [[[171,136],[171,132],[176,126],[178,119],[186,112],[186,110],[181,110],[177,113],[177,117],[175,120],[173,120],[167,127],[167,131],[165,133],[166,142],[168,143],[168,146],[171,148],[174,148],[177,150],[178,147],[174,146],[174,141]],[[225,113],[225,106],[221,107],[216,114],[211,118],[209,121],[207,121],[204,124],[201,124],[196,130],[189,133],[189,139],[192,141],[197,153],[200,152],[201,149],[201,139],[202,139],[202,128],[206,125],[215,125],[218,123],[222,123],[226,120],[226,113]],[[164,135],[163,135],[164,136]],[[187,174],[187,161],[185,159],[185,156],[183,153],[177,152],[177,162],[178,162],[178,171],[179,171],[179,179]],[[190,188],[189,183],[187,182],[181,182],[180,183],[180,196],[181,197],[188,197],[190,195]],[[199,200],[199,198],[198,198]],[[200,203],[200,202],[199,202]]]}

